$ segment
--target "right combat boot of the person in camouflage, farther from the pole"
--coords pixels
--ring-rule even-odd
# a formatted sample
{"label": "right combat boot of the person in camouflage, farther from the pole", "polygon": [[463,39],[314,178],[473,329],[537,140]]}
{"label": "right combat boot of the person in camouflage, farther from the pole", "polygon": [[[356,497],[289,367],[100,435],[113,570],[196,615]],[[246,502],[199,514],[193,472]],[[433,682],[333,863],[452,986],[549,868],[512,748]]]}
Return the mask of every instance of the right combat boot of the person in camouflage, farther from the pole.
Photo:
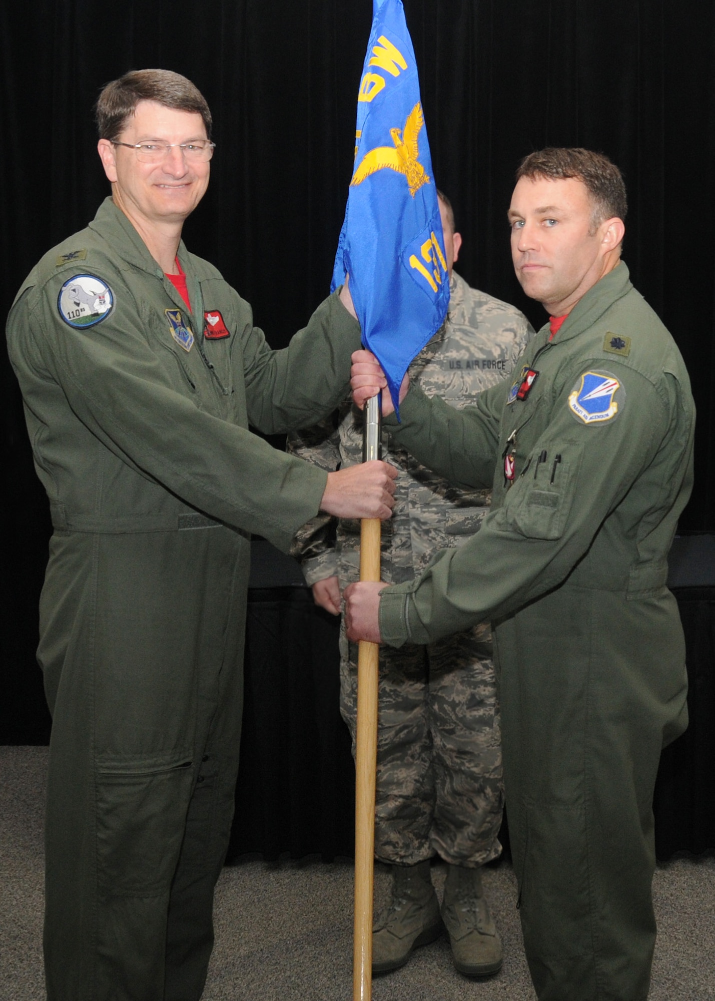
{"label": "right combat boot of the person in camouflage, farther from the pole", "polygon": [[490,977],[502,969],[502,940],[489,913],[479,869],[448,866],[442,917],[450,933],[452,961],[466,977]]}

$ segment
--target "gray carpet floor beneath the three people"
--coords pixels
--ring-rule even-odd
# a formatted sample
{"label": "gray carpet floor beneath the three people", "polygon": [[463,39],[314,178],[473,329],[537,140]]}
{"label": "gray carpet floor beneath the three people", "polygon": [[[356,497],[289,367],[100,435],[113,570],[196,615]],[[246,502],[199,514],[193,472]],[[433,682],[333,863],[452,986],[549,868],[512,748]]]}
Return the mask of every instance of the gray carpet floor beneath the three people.
{"label": "gray carpet floor beneath the three people", "polygon": [[[42,809],[46,748],[0,747],[0,1001],[41,1001]],[[445,872],[433,878],[442,892]],[[504,941],[504,968],[473,982],[449,945],[419,950],[403,970],[376,978],[374,1001],[534,1001],[510,866],[486,871]],[[376,905],[389,888],[376,874]],[[678,859],[654,880],[658,943],[650,1001],[715,999],[715,859]],[[352,866],[313,860],[223,870],[216,945],[204,1001],[349,1001]],[[569,999],[578,1001],[578,999]],[[626,1001],[626,999],[624,999]]]}

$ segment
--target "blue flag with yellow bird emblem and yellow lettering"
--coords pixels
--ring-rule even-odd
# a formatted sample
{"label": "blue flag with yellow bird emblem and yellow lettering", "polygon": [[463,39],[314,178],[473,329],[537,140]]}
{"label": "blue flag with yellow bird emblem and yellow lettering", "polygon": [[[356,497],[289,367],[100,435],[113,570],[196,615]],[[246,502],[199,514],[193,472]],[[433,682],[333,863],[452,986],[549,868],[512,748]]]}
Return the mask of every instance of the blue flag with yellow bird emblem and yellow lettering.
{"label": "blue flag with yellow bird emblem and yellow lettering", "polygon": [[363,343],[379,358],[397,411],[408,365],[439,330],[450,304],[437,188],[402,0],[373,4],[333,290],[345,274]]}

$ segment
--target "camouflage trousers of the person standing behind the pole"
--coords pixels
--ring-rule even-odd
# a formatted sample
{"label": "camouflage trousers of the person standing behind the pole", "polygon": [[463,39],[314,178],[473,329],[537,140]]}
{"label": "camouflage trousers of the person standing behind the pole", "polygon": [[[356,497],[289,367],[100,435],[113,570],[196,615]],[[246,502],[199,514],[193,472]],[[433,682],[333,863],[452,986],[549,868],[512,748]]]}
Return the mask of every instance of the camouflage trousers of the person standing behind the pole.
{"label": "camouflage trousers of the person standing behind the pole", "polygon": [[[485,639],[486,635],[486,639]],[[382,647],[375,854],[477,867],[501,852],[502,751],[486,626],[427,647]],[[352,735],[358,646],[340,630],[340,712]]]}

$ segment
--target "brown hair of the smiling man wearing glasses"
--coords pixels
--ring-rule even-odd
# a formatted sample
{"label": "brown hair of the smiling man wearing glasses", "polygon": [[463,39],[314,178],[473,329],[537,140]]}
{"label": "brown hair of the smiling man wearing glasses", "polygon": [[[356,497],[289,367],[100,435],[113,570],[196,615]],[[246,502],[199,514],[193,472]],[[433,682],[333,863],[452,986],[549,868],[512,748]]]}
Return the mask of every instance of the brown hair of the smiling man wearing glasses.
{"label": "brown hair of the smiling man wearing glasses", "polygon": [[156,101],[166,108],[199,114],[211,138],[211,112],[203,94],[185,76],[170,69],[134,69],[108,83],[94,109],[99,138],[117,139],[139,101]]}

